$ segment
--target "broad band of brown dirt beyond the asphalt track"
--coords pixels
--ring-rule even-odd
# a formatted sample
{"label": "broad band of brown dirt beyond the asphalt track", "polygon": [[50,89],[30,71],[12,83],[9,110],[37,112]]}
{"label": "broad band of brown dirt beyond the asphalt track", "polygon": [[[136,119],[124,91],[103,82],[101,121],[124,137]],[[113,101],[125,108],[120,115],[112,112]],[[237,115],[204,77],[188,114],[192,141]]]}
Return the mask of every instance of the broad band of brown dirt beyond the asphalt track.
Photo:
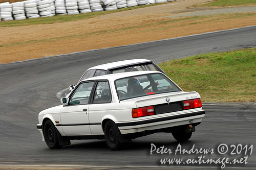
{"label": "broad band of brown dirt beyond the asphalt track", "polygon": [[[255,13],[166,18],[207,0],[189,0],[87,20],[0,28],[0,63],[255,25]],[[172,5],[174,4],[174,5]],[[228,23],[228,24],[226,24]]]}

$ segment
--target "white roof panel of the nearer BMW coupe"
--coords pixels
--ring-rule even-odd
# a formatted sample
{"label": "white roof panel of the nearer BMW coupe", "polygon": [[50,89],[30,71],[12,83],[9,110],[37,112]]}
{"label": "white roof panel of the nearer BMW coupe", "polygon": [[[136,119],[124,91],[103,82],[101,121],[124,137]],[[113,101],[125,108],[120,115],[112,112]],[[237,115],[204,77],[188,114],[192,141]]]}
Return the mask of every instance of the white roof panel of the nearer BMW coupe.
{"label": "white roof panel of the nearer BMW coupe", "polygon": [[92,77],[89,79],[85,79],[81,82],[84,81],[90,81],[90,80],[110,80],[110,81],[115,81],[117,79],[125,78],[125,77],[131,77],[131,76],[140,76],[140,75],[146,75],[146,74],[154,74],[154,73],[159,73],[162,74],[160,71],[131,71],[131,72],[121,72],[117,74],[110,74],[110,75],[103,75],[103,76],[97,76],[97,77]]}

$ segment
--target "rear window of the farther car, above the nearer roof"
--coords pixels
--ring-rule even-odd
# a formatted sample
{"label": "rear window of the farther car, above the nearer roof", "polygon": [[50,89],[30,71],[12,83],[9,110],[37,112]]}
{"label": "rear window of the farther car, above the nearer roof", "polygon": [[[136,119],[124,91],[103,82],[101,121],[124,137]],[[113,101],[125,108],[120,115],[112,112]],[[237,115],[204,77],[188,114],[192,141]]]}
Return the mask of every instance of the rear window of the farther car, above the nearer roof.
{"label": "rear window of the farther car, above the nearer roof", "polygon": [[161,71],[159,68],[157,68],[152,63],[143,63],[143,64],[137,64],[132,66],[127,66],[124,68],[116,68],[111,70],[113,74],[120,73],[120,72],[130,72],[130,71],[146,71],[146,70],[152,70],[152,71]]}

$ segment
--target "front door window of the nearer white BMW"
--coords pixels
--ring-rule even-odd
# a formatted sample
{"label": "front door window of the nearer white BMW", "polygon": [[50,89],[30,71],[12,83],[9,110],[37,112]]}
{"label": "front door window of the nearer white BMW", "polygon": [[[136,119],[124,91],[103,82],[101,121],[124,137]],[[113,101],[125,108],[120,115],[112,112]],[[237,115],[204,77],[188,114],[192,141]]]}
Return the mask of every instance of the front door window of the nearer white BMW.
{"label": "front door window of the nearer white BMW", "polygon": [[86,105],[89,104],[91,91],[94,82],[81,83],[70,98],[69,105]]}

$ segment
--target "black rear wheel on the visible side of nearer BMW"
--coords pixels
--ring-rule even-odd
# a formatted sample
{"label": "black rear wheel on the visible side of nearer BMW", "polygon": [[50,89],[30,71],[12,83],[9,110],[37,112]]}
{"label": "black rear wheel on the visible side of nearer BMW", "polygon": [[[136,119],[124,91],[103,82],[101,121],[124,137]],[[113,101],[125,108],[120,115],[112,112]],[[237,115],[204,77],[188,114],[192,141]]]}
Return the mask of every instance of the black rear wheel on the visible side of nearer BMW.
{"label": "black rear wheel on the visible side of nearer BMW", "polygon": [[120,131],[114,122],[109,121],[105,125],[104,129],[106,144],[111,150],[118,150],[120,148]]}

